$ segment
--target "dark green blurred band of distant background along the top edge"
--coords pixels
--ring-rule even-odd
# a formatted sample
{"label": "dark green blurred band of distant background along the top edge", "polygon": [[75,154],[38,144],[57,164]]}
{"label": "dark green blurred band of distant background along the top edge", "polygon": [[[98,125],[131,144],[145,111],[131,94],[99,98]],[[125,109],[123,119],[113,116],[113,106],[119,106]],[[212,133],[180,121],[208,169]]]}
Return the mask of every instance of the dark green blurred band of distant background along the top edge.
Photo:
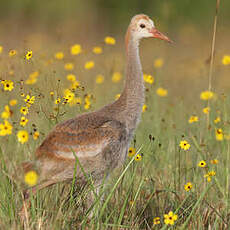
{"label": "dark green blurred band of distant background along the top edge", "polygon": [[[204,30],[212,23],[215,4],[215,0],[1,0],[0,19],[7,27],[32,25],[52,30],[65,22],[80,22],[82,28],[120,31],[133,15],[145,13],[169,29],[196,24]],[[221,1],[220,11],[221,25],[228,26],[229,0]]]}

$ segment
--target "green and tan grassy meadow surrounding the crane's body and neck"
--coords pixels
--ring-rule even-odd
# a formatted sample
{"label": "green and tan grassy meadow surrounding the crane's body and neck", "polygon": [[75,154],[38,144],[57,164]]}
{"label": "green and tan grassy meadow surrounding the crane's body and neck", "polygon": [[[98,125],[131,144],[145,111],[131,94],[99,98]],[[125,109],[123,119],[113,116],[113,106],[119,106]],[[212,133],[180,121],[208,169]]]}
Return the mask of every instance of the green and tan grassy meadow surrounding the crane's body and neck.
{"label": "green and tan grassy meadow surrounding the crane's body and neck", "polygon": [[[206,41],[202,41],[205,46]],[[138,153],[143,154],[142,160],[137,162],[134,158],[128,158],[122,168],[116,169],[104,181],[99,197],[95,198],[90,208],[92,218],[89,218],[90,210],[86,207],[86,199],[94,189],[92,178],[88,178],[88,186],[81,186],[76,176],[72,183],[60,183],[39,191],[31,197],[32,205],[25,229],[170,229],[164,224],[164,214],[169,211],[178,215],[171,229],[229,228],[230,146],[228,139],[218,141],[215,136],[217,128],[223,129],[225,137],[230,134],[230,98],[228,93],[223,94],[228,92],[228,87],[222,87],[223,81],[228,82],[229,66],[218,64],[225,52],[217,54],[219,62],[214,69],[218,69],[218,74],[213,75],[216,93],[207,102],[199,98],[200,92],[208,88],[208,66],[201,53],[186,59],[182,47],[166,47],[160,43],[153,47],[150,43],[146,42],[141,47],[142,60],[144,72],[153,74],[155,83],[146,84],[147,111],[142,114],[142,121],[131,143]],[[194,47],[196,45],[201,46],[195,43]],[[50,47],[51,51],[48,50],[45,55],[43,50],[34,52],[29,62],[22,58],[24,50],[20,48],[18,56],[13,58],[9,58],[6,52],[1,54],[2,79],[13,80],[15,87],[7,92],[0,84],[0,112],[13,98],[18,99],[18,104],[10,107],[12,115],[8,120],[13,124],[12,135],[0,137],[0,229],[23,229],[19,211],[26,185],[19,171],[20,163],[34,159],[36,147],[56,123],[87,112],[84,109],[86,93],[93,95],[89,110],[93,111],[111,102],[122,89],[122,84],[110,80],[113,72],[124,70],[120,47],[103,45],[101,56],[93,55],[88,49],[76,57],[68,54],[67,45],[61,49],[56,44],[50,44]],[[194,47],[190,47],[189,51],[192,52]],[[181,58],[171,61],[178,48],[181,49],[183,60],[189,63],[198,60],[198,63],[186,66],[181,64],[184,63]],[[157,56],[152,55],[152,49],[156,55],[163,53],[165,63],[161,69],[153,67],[153,60]],[[54,60],[54,50],[64,50],[64,60]],[[47,60],[51,59],[52,62],[47,65]],[[95,61],[94,69],[84,70],[87,60]],[[84,86],[84,90],[75,91],[75,95],[82,98],[81,105],[70,107],[68,104],[54,104],[55,99],[62,96],[63,89],[69,86],[65,78],[68,71],[63,67],[66,62],[75,64],[72,72]],[[4,66],[8,66],[8,69],[4,69]],[[175,73],[175,66],[182,66],[183,76],[180,71]],[[14,69],[14,76],[8,74],[11,69]],[[36,70],[39,70],[36,84],[20,84],[21,79],[25,81]],[[95,84],[95,76],[99,73],[105,76],[102,85]],[[158,87],[168,89],[168,96],[159,97],[156,94]],[[49,95],[50,91],[55,93],[53,98]],[[21,92],[36,97],[26,115],[29,122],[24,128],[19,124],[20,107],[25,105]],[[208,104],[210,124],[207,124],[207,115],[202,112]],[[188,119],[193,114],[199,117],[199,121],[189,124]],[[217,116],[221,122],[215,124]],[[0,120],[2,122],[3,119]],[[29,135],[29,141],[25,144],[18,142],[18,130],[33,133],[35,127],[40,132],[38,140],[33,140]],[[150,135],[154,138],[150,138]],[[188,151],[180,149],[181,140],[190,143]],[[211,164],[213,159],[218,159],[219,163]],[[197,166],[201,160],[206,161],[205,168]],[[214,170],[216,175],[208,182],[204,175],[210,170]],[[184,189],[187,182],[193,185],[189,192]],[[103,201],[100,201],[100,197],[103,197]],[[160,217],[161,224],[153,226],[155,217]]]}

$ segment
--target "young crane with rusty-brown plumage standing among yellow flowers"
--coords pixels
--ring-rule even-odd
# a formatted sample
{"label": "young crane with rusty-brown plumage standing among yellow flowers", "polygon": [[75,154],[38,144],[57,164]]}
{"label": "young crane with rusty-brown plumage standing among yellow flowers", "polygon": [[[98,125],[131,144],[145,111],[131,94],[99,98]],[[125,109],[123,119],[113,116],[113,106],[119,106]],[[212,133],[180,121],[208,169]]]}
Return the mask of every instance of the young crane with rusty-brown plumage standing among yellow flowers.
{"label": "young crane with rusty-brown plumage standing among yellow flowers", "polygon": [[[159,38],[171,42],[155,28],[148,16],[140,14],[132,18],[125,37],[126,82],[120,98],[95,112],[55,126],[37,148],[35,162],[24,163],[25,171],[34,166],[39,169],[39,183],[32,188],[33,192],[72,180],[76,156],[84,171],[92,176],[95,185],[101,183],[105,174],[123,164],[140,121],[145,98],[139,57],[139,42],[142,38]],[[76,181],[83,178],[78,167]]]}

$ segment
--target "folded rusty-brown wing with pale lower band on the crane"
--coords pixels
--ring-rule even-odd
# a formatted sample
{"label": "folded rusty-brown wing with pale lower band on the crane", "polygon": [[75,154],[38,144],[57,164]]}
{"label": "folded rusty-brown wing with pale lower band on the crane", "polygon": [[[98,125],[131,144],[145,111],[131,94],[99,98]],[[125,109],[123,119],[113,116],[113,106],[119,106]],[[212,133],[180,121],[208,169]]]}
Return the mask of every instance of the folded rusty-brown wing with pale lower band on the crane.
{"label": "folded rusty-brown wing with pale lower band on the crane", "polygon": [[125,138],[126,128],[121,122],[86,115],[57,125],[37,149],[36,157],[75,160],[76,154],[90,159],[112,146],[118,150]]}

